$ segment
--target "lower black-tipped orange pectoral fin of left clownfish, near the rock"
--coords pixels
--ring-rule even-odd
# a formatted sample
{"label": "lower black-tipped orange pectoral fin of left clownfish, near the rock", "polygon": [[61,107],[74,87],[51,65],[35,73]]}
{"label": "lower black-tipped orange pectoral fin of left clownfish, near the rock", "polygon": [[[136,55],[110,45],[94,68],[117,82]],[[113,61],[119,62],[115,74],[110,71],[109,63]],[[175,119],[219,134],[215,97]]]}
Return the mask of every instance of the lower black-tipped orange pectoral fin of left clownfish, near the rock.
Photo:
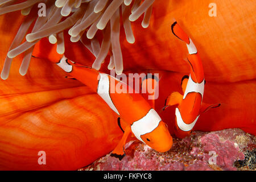
{"label": "lower black-tipped orange pectoral fin of left clownfish, near the rock", "polygon": [[117,144],[117,147],[112,151],[112,154],[110,156],[113,156],[115,158],[118,158],[119,160],[122,160],[122,158],[125,156],[125,143],[126,139],[129,137],[131,133],[131,126],[127,126],[125,128],[125,132],[123,134],[122,139]]}

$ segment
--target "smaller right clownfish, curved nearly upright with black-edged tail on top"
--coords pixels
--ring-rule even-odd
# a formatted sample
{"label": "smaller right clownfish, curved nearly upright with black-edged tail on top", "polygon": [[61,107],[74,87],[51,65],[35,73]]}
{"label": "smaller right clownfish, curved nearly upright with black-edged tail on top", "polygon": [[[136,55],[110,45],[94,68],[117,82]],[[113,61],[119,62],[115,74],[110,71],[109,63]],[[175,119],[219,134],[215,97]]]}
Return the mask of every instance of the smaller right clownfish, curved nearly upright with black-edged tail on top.
{"label": "smaller right clownfish, curved nearly upright with black-edged tail on top", "polygon": [[187,44],[189,53],[187,62],[190,67],[190,75],[186,75],[181,79],[183,96],[179,92],[173,92],[167,97],[164,109],[168,106],[178,105],[175,109],[174,133],[176,137],[184,138],[191,134],[201,113],[210,108],[218,107],[220,104],[205,104],[203,102],[204,69],[195,44],[177,22],[172,24],[171,30],[177,38]]}

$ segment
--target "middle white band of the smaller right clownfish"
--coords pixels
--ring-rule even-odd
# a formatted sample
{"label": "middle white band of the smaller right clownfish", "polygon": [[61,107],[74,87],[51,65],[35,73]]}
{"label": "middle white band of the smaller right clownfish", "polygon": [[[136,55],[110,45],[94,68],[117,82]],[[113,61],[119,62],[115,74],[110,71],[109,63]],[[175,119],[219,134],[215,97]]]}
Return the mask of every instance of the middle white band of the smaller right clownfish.
{"label": "middle white band of the smaller right clownfish", "polygon": [[200,93],[201,96],[202,96],[202,100],[203,100],[203,96],[204,96],[204,80],[200,84],[198,84],[198,83],[195,83],[192,80],[191,75],[189,75],[188,83],[187,83],[187,87],[185,89],[185,93],[184,93],[183,99],[185,99],[185,97],[187,97],[187,94],[190,93],[190,92]]}

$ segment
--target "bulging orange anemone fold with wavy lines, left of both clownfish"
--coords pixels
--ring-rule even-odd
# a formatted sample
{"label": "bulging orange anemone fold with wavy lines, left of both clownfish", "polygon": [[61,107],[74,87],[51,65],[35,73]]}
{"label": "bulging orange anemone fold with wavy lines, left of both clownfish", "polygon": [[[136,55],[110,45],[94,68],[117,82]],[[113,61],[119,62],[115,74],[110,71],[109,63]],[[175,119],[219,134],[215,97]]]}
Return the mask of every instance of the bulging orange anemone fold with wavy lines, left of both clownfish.
{"label": "bulging orange anemone fold with wavy lines, left of both clownfish", "polygon": [[[20,24],[22,16],[0,19],[2,68],[18,30],[4,22]],[[49,50],[41,53],[57,58],[56,49]],[[118,116],[100,96],[46,59],[32,57],[27,75],[20,76],[21,60],[17,56],[8,80],[0,81],[1,170],[76,170],[117,146],[123,134],[113,122]],[[46,164],[40,163],[40,151]]]}

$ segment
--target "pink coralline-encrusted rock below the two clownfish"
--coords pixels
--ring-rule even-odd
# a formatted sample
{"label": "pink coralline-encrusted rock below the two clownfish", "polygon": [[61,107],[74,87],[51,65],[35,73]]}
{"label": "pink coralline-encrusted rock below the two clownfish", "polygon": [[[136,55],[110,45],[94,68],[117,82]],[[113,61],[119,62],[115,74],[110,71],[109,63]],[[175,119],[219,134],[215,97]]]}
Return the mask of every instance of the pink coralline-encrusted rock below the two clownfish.
{"label": "pink coralline-encrusted rock below the two clownfish", "polygon": [[135,141],[121,161],[108,154],[79,170],[255,170],[255,140],[240,129],[194,131],[190,137],[174,138],[171,150],[164,153]]}

